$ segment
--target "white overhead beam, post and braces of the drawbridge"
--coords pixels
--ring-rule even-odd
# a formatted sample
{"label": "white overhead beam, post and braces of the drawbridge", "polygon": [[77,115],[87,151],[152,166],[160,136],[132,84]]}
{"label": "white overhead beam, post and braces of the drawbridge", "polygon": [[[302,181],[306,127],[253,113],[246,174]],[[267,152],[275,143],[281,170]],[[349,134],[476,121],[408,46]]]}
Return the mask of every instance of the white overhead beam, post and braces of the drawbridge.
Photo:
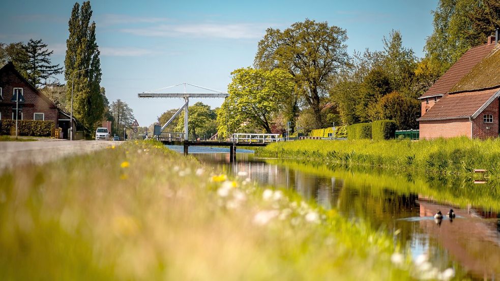
{"label": "white overhead beam, post and braces of the drawbridge", "polygon": [[[174,87],[179,87],[183,85],[184,86],[184,92],[183,93],[156,93],[158,91],[174,88]],[[206,91],[209,91],[208,93],[187,93],[186,92],[186,85],[198,88],[198,89],[203,89]],[[164,88],[159,88],[155,89],[152,91],[147,91],[147,92],[142,92],[140,94],[137,94],[139,98],[183,98],[185,103],[183,106],[177,110],[177,112],[161,127],[161,133],[163,133],[163,130],[172,123],[172,121],[181,113],[181,111],[184,109],[184,141],[188,141],[188,116],[189,116],[189,98],[227,98],[229,96],[228,93],[223,92],[223,91],[218,91],[214,89],[210,89],[207,87],[202,87],[190,83],[180,83],[177,85],[173,86],[168,86]],[[160,135],[161,136],[161,135]],[[159,137],[160,137],[159,136]],[[166,136],[168,137],[168,136]],[[170,136],[171,137],[171,136]]]}

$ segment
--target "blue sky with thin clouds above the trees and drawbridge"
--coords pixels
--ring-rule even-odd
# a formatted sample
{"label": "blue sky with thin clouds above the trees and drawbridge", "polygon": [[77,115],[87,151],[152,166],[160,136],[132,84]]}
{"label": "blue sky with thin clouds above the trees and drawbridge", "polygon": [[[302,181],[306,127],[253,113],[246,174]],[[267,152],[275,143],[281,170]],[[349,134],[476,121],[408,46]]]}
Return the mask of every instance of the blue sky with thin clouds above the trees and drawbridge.
{"label": "blue sky with thin clouds above the trees and drawbridge", "polygon": [[[52,63],[64,65],[74,3],[8,0],[2,4],[0,42],[41,38],[54,50]],[[349,54],[382,49],[382,38],[395,29],[403,44],[422,57],[436,5],[437,0],[91,1],[101,50],[101,86],[110,101],[126,101],[141,126],[183,102],[139,99],[137,93],[183,82],[226,91],[230,72],[252,65],[268,27],[285,29],[306,18],[328,21],[347,30]],[[58,78],[65,82],[64,76]],[[201,101],[213,107],[222,103]]]}

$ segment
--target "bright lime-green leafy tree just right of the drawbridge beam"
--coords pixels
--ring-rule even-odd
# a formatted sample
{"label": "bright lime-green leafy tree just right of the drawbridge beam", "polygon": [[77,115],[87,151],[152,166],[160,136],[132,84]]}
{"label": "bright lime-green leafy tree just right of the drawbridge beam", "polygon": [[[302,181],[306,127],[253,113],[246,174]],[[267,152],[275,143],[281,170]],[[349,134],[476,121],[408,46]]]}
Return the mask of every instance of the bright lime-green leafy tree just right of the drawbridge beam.
{"label": "bright lime-green leafy tree just right of the drawbridge beam", "polygon": [[231,72],[229,97],[217,113],[219,134],[230,132],[249,123],[271,133],[273,114],[284,107],[293,91],[293,77],[285,70],[240,68]]}

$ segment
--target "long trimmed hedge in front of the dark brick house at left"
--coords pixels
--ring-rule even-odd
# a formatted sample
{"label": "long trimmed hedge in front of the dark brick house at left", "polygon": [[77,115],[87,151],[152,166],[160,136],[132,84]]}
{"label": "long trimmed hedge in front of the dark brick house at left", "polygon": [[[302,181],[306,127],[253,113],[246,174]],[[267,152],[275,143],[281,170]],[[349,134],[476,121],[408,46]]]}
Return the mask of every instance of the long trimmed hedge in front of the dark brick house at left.
{"label": "long trimmed hedge in front of the dark brick house at left", "polygon": [[[27,136],[51,136],[55,128],[54,121],[39,121],[39,120],[18,120],[17,134]],[[1,135],[15,135],[16,121],[15,120],[0,120]]]}

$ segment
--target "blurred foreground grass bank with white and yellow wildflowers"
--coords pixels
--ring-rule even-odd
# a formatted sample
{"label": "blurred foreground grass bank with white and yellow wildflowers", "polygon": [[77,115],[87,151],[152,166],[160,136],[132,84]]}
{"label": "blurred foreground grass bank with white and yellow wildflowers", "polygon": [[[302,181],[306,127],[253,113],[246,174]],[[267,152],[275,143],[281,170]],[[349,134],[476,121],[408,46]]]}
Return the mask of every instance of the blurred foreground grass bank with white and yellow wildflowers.
{"label": "blurred foreground grass bank with white and yellow wildflowers", "polygon": [[401,280],[441,274],[394,254],[400,249],[392,238],[362,222],[244,178],[213,174],[153,142],[4,171],[2,278]]}

